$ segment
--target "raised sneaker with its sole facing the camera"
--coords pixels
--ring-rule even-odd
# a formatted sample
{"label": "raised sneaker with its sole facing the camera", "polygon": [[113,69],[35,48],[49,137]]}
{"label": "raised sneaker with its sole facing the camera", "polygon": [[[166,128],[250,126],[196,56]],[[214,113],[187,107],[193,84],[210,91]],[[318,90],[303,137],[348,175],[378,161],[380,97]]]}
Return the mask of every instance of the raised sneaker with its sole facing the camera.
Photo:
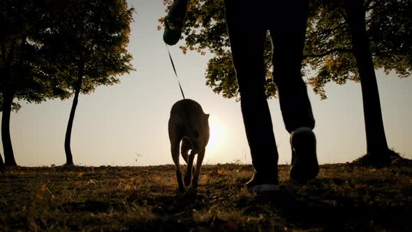
{"label": "raised sneaker with its sole facing the camera", "polygon": [[290,133],[292,166],[290,178],[300,183],[312,180],[319,173],[316,157],[316,136],[308,127],[299,127]]}

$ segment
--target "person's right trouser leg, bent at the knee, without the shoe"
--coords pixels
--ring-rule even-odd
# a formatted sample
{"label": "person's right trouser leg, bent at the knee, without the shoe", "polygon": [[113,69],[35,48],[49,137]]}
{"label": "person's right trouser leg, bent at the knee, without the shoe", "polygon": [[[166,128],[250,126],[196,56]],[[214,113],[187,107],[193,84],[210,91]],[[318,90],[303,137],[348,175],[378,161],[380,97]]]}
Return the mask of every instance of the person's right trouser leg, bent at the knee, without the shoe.
{"label": "person's right trouser leg, bent at the knee, without the shoe", "polygon": [[304,1],[278,5],[274,6],[270,34],[273,75],[286,130],[290,133],[301,126],[314,129],[315,120],[301,73],[307,5]]}

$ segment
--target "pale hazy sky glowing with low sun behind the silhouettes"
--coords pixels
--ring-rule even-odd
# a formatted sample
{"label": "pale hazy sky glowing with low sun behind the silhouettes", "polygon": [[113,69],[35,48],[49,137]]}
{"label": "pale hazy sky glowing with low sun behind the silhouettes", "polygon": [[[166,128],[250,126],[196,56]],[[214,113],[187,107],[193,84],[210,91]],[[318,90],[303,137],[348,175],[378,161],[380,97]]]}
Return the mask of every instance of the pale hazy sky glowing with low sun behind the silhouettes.
{"label": "pale hazy sky glowing with low sun behind the silhouettes", "polygon": [[[121,83],[97,87],[80,95],[73,124],[73,161],[82,166],[152,166],[172,164],[168,118],[173,103],[182,99],[157,21],[165,15],[163,1],[128,1],[135,7],[128,51],[136,71],[120,77]],[[181,43],[181,42],[179,42]],[[186,98],[198,101],[209,113],[211,138],[203,164],[251,164],[249,146],[235,99],[223,99],[205,85],[210,55],[183,55],[179,43],[170,47]],[[412,78],[376,71],[388,145],[412,159]],[[360,84],[330,83],[322,100],[308,87],[316,118],[320,164],[344,163],[366,152],[365,124]],[[12,113],[10,133],[15,159],[20,166],[51,166],[66,162],[64,135],[73,98],[41,104],[21,102]],[[289,134],[279,102],[270,99],[279,164],[290,164]],[[0,113],[1,114],[1,113]],[[3,147],[0,145],[3,155]],[[4,159],[4,157],[3,157]],[[181,160],[181,164],[184,161]]]}

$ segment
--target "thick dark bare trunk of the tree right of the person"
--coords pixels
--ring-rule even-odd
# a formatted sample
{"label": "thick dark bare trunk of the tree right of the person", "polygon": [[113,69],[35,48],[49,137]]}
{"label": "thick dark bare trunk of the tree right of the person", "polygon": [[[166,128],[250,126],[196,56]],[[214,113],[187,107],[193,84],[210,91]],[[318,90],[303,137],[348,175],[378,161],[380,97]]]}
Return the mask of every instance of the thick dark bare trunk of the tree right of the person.
{"label": "thick dark bare trunk of the tree right of the person", "polygon": [[383,127],[378,83],[369,48],[363,1],[346,0],[345,8],[362,89],[367,153],[374,156],[388,154],[389,148]]}

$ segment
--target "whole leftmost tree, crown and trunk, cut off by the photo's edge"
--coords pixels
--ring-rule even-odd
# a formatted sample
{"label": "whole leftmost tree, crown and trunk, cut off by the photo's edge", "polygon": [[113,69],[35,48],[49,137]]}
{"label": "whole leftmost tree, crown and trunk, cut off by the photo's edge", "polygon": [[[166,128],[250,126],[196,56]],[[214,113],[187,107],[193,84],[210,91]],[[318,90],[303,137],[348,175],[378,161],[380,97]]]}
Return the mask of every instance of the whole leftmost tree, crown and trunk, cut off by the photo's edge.
{"label": "whole leftmost tree, crown and trunk, cut off by the photo's edge", "polygon": [[14,99],[40,103],[57,96],[51,87],[47,63],[36,41],[44,26],[41,1],[1,1],[0,3],[0,111],[1,139],[6,166],[16,166],[10,138],[10,113],[20,109]]}

